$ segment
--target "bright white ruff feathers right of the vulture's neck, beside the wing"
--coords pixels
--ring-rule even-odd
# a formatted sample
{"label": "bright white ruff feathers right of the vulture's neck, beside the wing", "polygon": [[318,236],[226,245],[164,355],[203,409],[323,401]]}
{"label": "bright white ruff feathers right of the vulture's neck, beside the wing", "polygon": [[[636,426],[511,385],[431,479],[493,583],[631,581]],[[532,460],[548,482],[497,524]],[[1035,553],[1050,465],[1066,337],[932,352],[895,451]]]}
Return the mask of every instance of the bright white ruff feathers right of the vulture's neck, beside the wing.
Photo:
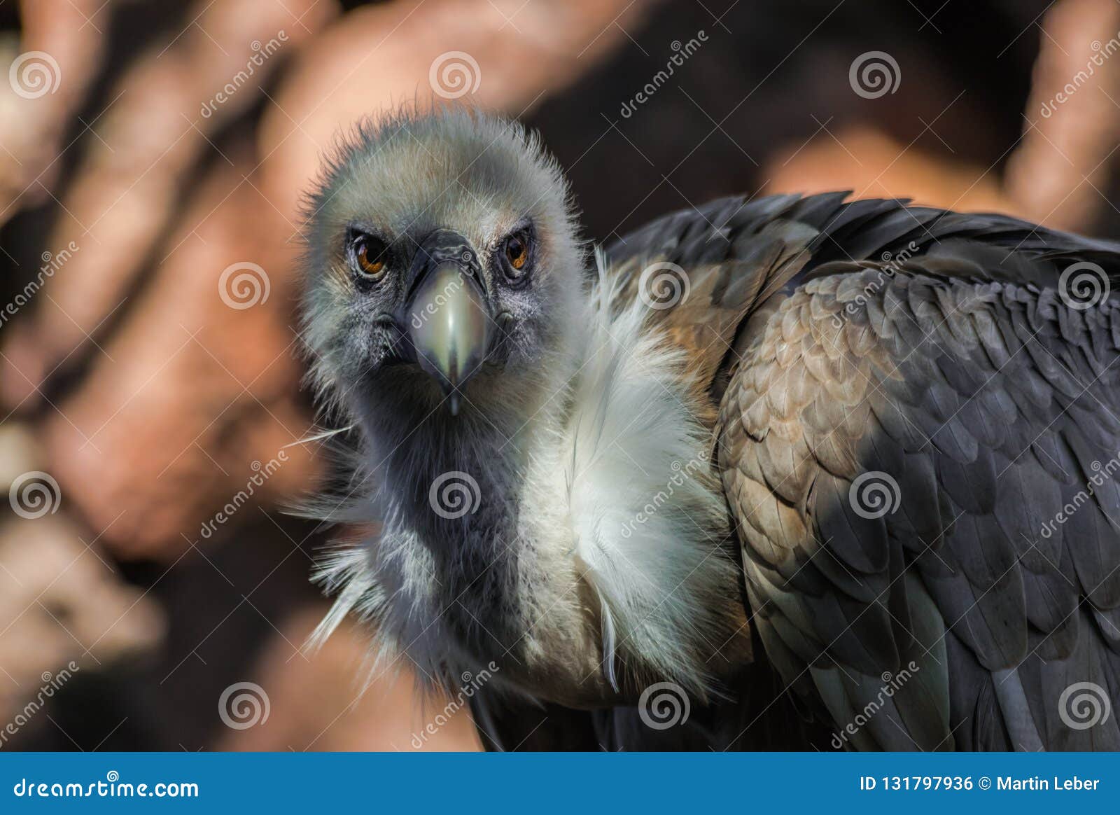
{"label": "bright white ruff feathers right of the vulture's neck, beside the wing", "polygon": [[[737,597],[738,579],[722,551],[727,515],[710,468],[712,434],[698,415],[683,350],[648,328],[640,299],[612,315],[613,281],[597,260],[592,330],[562,433],[561,534],[600,601],[607,680],[617,686],[620,658],[699,691],[709,684],[700,655],[719,645],[704,637],[716,636],[713,617]],[[545,479],[531,472],[529,483]]]}

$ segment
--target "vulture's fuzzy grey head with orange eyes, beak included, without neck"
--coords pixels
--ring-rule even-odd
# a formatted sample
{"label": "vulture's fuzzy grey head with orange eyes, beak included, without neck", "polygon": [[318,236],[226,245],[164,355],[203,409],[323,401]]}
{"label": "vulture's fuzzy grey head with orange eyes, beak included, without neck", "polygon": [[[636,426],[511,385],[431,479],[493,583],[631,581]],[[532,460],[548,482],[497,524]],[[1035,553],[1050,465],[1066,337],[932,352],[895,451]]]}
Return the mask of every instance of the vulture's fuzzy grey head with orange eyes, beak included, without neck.
{"label": "vulture's fuzzy grey head with orange eyes, beak included, without neck", "polygon": [[388,441],[430,413],[461,439],[540,408],[586,292],[535,139],[464,112],[361,127],[310,221],[310,345],[364,428]]}

